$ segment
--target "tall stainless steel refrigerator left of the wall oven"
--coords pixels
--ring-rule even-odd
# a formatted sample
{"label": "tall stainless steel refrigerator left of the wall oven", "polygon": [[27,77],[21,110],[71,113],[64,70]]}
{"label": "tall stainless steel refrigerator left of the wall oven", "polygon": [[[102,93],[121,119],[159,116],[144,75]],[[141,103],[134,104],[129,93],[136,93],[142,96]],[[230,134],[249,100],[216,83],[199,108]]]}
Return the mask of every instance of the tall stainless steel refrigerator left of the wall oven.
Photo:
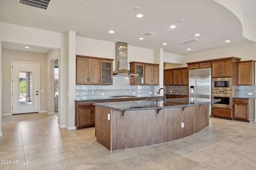
{"label": "tall stainless steel refrigerator left of the wall oven", "polygon": [[189,97],[211,98],[211,68],[189,70]]}

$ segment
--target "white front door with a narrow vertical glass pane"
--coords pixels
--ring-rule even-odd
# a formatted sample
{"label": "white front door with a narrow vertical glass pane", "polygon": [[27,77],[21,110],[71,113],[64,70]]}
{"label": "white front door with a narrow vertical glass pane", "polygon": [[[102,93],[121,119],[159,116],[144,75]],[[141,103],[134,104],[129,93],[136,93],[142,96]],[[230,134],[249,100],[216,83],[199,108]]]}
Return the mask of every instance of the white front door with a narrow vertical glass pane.
{"label": "white front door with a narrow vertical glass pane", "polygon": [[12,114],[38,112],[39,64],[12,62]]}

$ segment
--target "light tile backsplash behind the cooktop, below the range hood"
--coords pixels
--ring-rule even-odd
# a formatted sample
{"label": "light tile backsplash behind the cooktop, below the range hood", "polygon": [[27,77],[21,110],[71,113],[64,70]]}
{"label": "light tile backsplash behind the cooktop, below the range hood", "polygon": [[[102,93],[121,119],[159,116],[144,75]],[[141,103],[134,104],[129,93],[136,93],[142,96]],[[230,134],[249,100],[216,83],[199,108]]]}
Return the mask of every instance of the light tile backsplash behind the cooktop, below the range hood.
{"label": "light tile backsplash behind the cooktop, below the range hood", "polygon": [[153,96],[154,86],[130,86],[128,76],[113,76],[113,85],[76,85],[76,99],[121,95]]}

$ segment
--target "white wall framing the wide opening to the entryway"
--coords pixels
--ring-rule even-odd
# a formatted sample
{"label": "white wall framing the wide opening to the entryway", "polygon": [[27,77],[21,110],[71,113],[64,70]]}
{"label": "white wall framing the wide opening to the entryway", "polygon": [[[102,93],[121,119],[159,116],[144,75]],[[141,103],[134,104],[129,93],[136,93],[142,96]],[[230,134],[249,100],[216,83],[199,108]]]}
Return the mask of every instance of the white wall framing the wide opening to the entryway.
{"label": "white wall framing the wide opening to the entryway", "polygon": [[[9,23],[0,22],[0,42],[11,42],[19,43],[24,45],[35,45],[38,47],[47,47],[51,49],[60,49],[59,66],[66,65],[66,54],[65,54],[65,44],[66,37],[64,33],[57,33],[53,31],[46,31],[42,29],[34,29],[31,27],[24,27],[20,25],[13,25]],[[0,61],[2,62],[2,53],[0,53]],[[0,70],[2,70],[2,64],[0,65]],[[65,115],[66,115],[66,90],[65,90],[65,78],[68,77],[64,69],[60,70],[60,96],[59,100],[59,112],[61,113],[60,125],[65,125]],[[0,86],[2,86],[2,74],[0,74]],[[0,96],[2,96],[2,88],[0,91]],[[1,99],[2,100],[2,99]],[[2,104],[2,102],[1,102]],[[61,110],[60,110],[61,109]],[[0,115],[2,115],[2,107],[0,109]],[[1,129],[0,129],[1,131]]]}

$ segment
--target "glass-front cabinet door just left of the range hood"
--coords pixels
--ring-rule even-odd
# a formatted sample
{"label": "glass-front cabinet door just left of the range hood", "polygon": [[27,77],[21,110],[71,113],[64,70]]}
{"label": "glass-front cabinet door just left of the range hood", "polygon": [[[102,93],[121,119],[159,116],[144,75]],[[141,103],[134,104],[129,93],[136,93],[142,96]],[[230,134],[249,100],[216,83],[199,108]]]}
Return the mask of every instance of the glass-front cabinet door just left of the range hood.
{"label": "glass-front cabinet door just left of the range hood", "polygon": [[100,84],[113,84],[112,61],[100,61]]}

